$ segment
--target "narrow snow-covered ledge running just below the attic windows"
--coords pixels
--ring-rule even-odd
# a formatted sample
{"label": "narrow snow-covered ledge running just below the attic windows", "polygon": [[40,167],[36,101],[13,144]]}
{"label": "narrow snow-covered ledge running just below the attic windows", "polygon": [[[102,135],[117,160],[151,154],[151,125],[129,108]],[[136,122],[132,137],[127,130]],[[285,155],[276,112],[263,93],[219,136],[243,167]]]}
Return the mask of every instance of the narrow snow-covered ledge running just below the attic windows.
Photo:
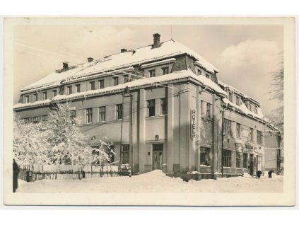
{"label": "narrow snow-covered ledge running just below the attic windows", "polygon": [[122,83],[117,86],[109,86],[106,88],[102,89],[97,89],[97,90],[90,90],[90,91],[83,91],[79,93],[72,93],[70,95],[57,95],[52,100],[38,100],[35,103],[18,103],[13,106],[14,109],[16,108],[25,108],[28,106],[37,106],[37,105],[45,105],[51,103],[51,101],[59,101],[59,100],[71,100],[71,99],[76,99],[76,98],[87,98],[89,96],[95,96],[98,94],[105,94],[105,93],[112,93],[112,92],[117,92],[117,91],[124,91],[124,88],[129,87],[129,88],[138,88],[140,86],[145,86],[145,85],[157,85],[159,86],[160,83],[163,83],[165,81],[175,81],[177,79],[185,79],[185,78],[192,78],[203,85],[209,86],[213,91],[216,91],[216,93],[221,94],[221,96],[227,96],[227,93],[221,89],[216,83],[211,81],[211,79],[206,78],[206,76],[197,76],[195,75],[190,69],[188,70],[181,70],[181,71],[175,71],[171,74],[166,74],[163,76],[155,76],[151,78],[144,78],[144,79],[138,79],[135,81],[131,81],[128,83]]}

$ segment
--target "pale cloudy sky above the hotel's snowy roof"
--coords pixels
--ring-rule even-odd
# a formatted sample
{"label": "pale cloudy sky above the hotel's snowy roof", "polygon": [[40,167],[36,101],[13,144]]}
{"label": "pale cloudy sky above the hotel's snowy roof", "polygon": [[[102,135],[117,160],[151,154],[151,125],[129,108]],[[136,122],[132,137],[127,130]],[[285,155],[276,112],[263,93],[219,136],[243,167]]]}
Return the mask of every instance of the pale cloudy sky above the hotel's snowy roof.
{"label": "pale cloudy sky above the hotel's snowy roof", "polygon": [[176,40],[201,54],[218,69],[218,80],[261,103],[265,115],[278,107],[269,100],[271,76],[281,62],[282,25],[18,25],[13,43],[13,103],[20,89],[38,81],[62,62],[69,66]]}

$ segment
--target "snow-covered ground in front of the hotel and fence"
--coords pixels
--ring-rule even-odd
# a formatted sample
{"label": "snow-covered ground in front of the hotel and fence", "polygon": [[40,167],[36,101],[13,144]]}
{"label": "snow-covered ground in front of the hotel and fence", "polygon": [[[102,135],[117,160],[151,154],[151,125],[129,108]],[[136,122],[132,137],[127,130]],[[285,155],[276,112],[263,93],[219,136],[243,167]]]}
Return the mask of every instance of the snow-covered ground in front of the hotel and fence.
{"label": "snow-covered ground in front of the hotel and fence", "polygon": [[131,178],[37,180],[32,183],[19,180],[17,192],[283,192],[283,176],[274,174],[273,178],[245,176],[184,182],[181,178],[170,178],[162,171],[152,171]]}

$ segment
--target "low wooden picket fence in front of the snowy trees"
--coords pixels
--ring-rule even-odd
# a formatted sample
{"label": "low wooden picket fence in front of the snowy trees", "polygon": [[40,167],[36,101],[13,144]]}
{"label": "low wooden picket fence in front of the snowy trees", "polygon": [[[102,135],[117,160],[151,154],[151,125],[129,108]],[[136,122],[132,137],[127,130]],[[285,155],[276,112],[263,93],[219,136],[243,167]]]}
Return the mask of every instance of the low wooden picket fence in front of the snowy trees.
{"label": "low wooden picket fence in front of the snowy trees", "polygon": [[97,165],[20,165],[18,178],[25,181],[35,180],[75,180],[130,176],[130,166]]}

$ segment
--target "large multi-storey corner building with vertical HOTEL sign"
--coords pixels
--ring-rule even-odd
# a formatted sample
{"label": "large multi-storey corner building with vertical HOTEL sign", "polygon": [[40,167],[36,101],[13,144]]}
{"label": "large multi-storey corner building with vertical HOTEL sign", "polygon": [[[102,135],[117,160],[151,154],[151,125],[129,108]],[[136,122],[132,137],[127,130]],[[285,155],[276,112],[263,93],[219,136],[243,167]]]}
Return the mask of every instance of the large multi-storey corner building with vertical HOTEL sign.
{"label": "large multi-storey corner building with vertical HOTEL sign", "polygon": [[169,40],[54,71],[21,90],[14,111],[47,120],[57,103],[96,146],[134,174],[155,169],[182,178],[217,178],[264,170],[264,127],[257,100],[218,81],[218,69]]}

